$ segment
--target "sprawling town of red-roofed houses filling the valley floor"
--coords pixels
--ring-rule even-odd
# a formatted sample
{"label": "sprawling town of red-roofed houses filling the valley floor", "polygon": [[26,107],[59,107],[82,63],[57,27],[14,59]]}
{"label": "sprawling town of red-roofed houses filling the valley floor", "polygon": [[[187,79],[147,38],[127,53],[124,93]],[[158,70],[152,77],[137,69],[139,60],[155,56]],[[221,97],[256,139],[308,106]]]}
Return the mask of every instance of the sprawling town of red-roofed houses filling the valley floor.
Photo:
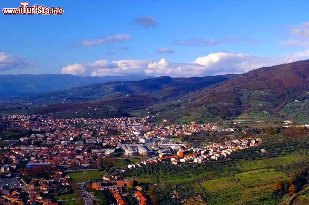
{"label": "sprawling town of red-roofed houses filling the valley floor", "polygon": [[[219,128],[217,123],[177,125],[165,120],[151,124],[149,117],[111,119],[53,119],[41,115],[1,116],[7,132],[30,131],[19,139],[6,140],[1,167],[1,203],[52,204],[65,203],[61,195],[74,193],[74,200],[83,198],[85,204],[96,203],[98,197],[92,191],[105,190],[115,203],[128,204],[128,188],[135,189],[132,197],[139,204],[150,204],[143,193],[145,189],[138,178],[124,179],[117,175],[129,169],[137,169],[157,163],[202,163],[223,160],[239,149],[247,149],[263,143],[262,139],[231,138],[225,143],[204,144],[192,147],[183,136],[197,132],[238,132],[235,128]],[[4,140],[4,139],[3,139]],[[70,176],[82,171],[98,171],[100,174],[74,181]],[[74,175],[73,175],[74,176]],[[90,180],[90,192],[85,190]],[[63,190],[59,192],[59,190]],[[89,191],[88,190],[88,191]],[[108,190],[108,192],[106,191]],[[50,198],[53,193],[58,198]],[[79,194],[79,195],[78,195]],[[129,197],[130,200],[131,197]],[[101,199],[103,200],[103,199]],[[112,203],[109,201],[108,203]],[[102,202],[101,202],[102,204]]]}

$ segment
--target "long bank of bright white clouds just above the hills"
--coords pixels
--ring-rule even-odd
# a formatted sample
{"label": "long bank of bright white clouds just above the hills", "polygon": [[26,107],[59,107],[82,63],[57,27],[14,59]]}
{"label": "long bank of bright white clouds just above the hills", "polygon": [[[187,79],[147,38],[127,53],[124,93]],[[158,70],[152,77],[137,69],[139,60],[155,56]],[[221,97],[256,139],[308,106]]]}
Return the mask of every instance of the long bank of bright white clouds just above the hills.
{"label": "long bank of bright white clouds just above the hills", "polygon": [[146,74],[152,76],[191,77],[227,73],[239,74],[264,66],[303,60],[307,57],[309,57],[309,50],[278,58],[243,53],[217,52],[198,57],[189,63],[169,62],[165,58],[159,61],[127,59],[112,62],[99,60],[94,63],[74,64],[65,67],[70,68],[70,70],[79,70],[80,73],[90,74],[91,76]]}

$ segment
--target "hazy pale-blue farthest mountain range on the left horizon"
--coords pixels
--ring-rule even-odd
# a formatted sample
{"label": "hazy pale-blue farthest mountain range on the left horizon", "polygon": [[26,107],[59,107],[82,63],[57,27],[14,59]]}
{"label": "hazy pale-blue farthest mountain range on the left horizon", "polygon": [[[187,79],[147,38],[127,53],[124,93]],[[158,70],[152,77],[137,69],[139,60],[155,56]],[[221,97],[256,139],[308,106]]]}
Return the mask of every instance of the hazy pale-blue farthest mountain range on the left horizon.
{"label": "hazy pale-blue farthest mountain range on the left horizon", "polygon": [[87,86],[94,83],[143,80],[151,77],[141,75],[79,77],[69,74],[0,75],[0,97],[45,93],[70,87]]}

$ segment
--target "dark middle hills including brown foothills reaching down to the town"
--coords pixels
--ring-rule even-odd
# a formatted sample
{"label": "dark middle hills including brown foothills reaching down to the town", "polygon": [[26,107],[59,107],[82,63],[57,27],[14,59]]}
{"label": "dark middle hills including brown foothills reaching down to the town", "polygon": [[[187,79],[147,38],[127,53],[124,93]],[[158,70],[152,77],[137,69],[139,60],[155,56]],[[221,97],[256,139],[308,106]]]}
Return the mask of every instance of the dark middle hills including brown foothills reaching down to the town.
{"label": "dark middle hills including brown foothills reaching down to the town", "polygon": [[[31,110],[19,110],[24,114],[53,114],[56,117],[116,117],[129,116],[133,110],[145,109],[164,103],[180,104],[190,92],[223,82],[235,74],[172,78],[168,76],[141,81],[108,82],[89,86],[34,94],[22,98],[24,102],[34,102]],[[16,112],[14,108],[8,113]],[[148,111],[147,111],[148,112]],[[55,115],[57,113],[57,115]]]}

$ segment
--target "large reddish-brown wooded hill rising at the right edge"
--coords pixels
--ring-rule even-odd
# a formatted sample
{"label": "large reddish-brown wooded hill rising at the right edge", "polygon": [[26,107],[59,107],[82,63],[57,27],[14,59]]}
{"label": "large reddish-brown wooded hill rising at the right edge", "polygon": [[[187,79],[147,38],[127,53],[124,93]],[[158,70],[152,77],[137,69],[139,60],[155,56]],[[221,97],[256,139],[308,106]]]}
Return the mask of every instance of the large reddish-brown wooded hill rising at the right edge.
{"label": "large reddish-brown wooded hill rising at the right edge", "polygon": [[222,118],[251,110],[278,112],[291,101],[309,99],[309,60],[252,70],[192,93],[192,106]]}

